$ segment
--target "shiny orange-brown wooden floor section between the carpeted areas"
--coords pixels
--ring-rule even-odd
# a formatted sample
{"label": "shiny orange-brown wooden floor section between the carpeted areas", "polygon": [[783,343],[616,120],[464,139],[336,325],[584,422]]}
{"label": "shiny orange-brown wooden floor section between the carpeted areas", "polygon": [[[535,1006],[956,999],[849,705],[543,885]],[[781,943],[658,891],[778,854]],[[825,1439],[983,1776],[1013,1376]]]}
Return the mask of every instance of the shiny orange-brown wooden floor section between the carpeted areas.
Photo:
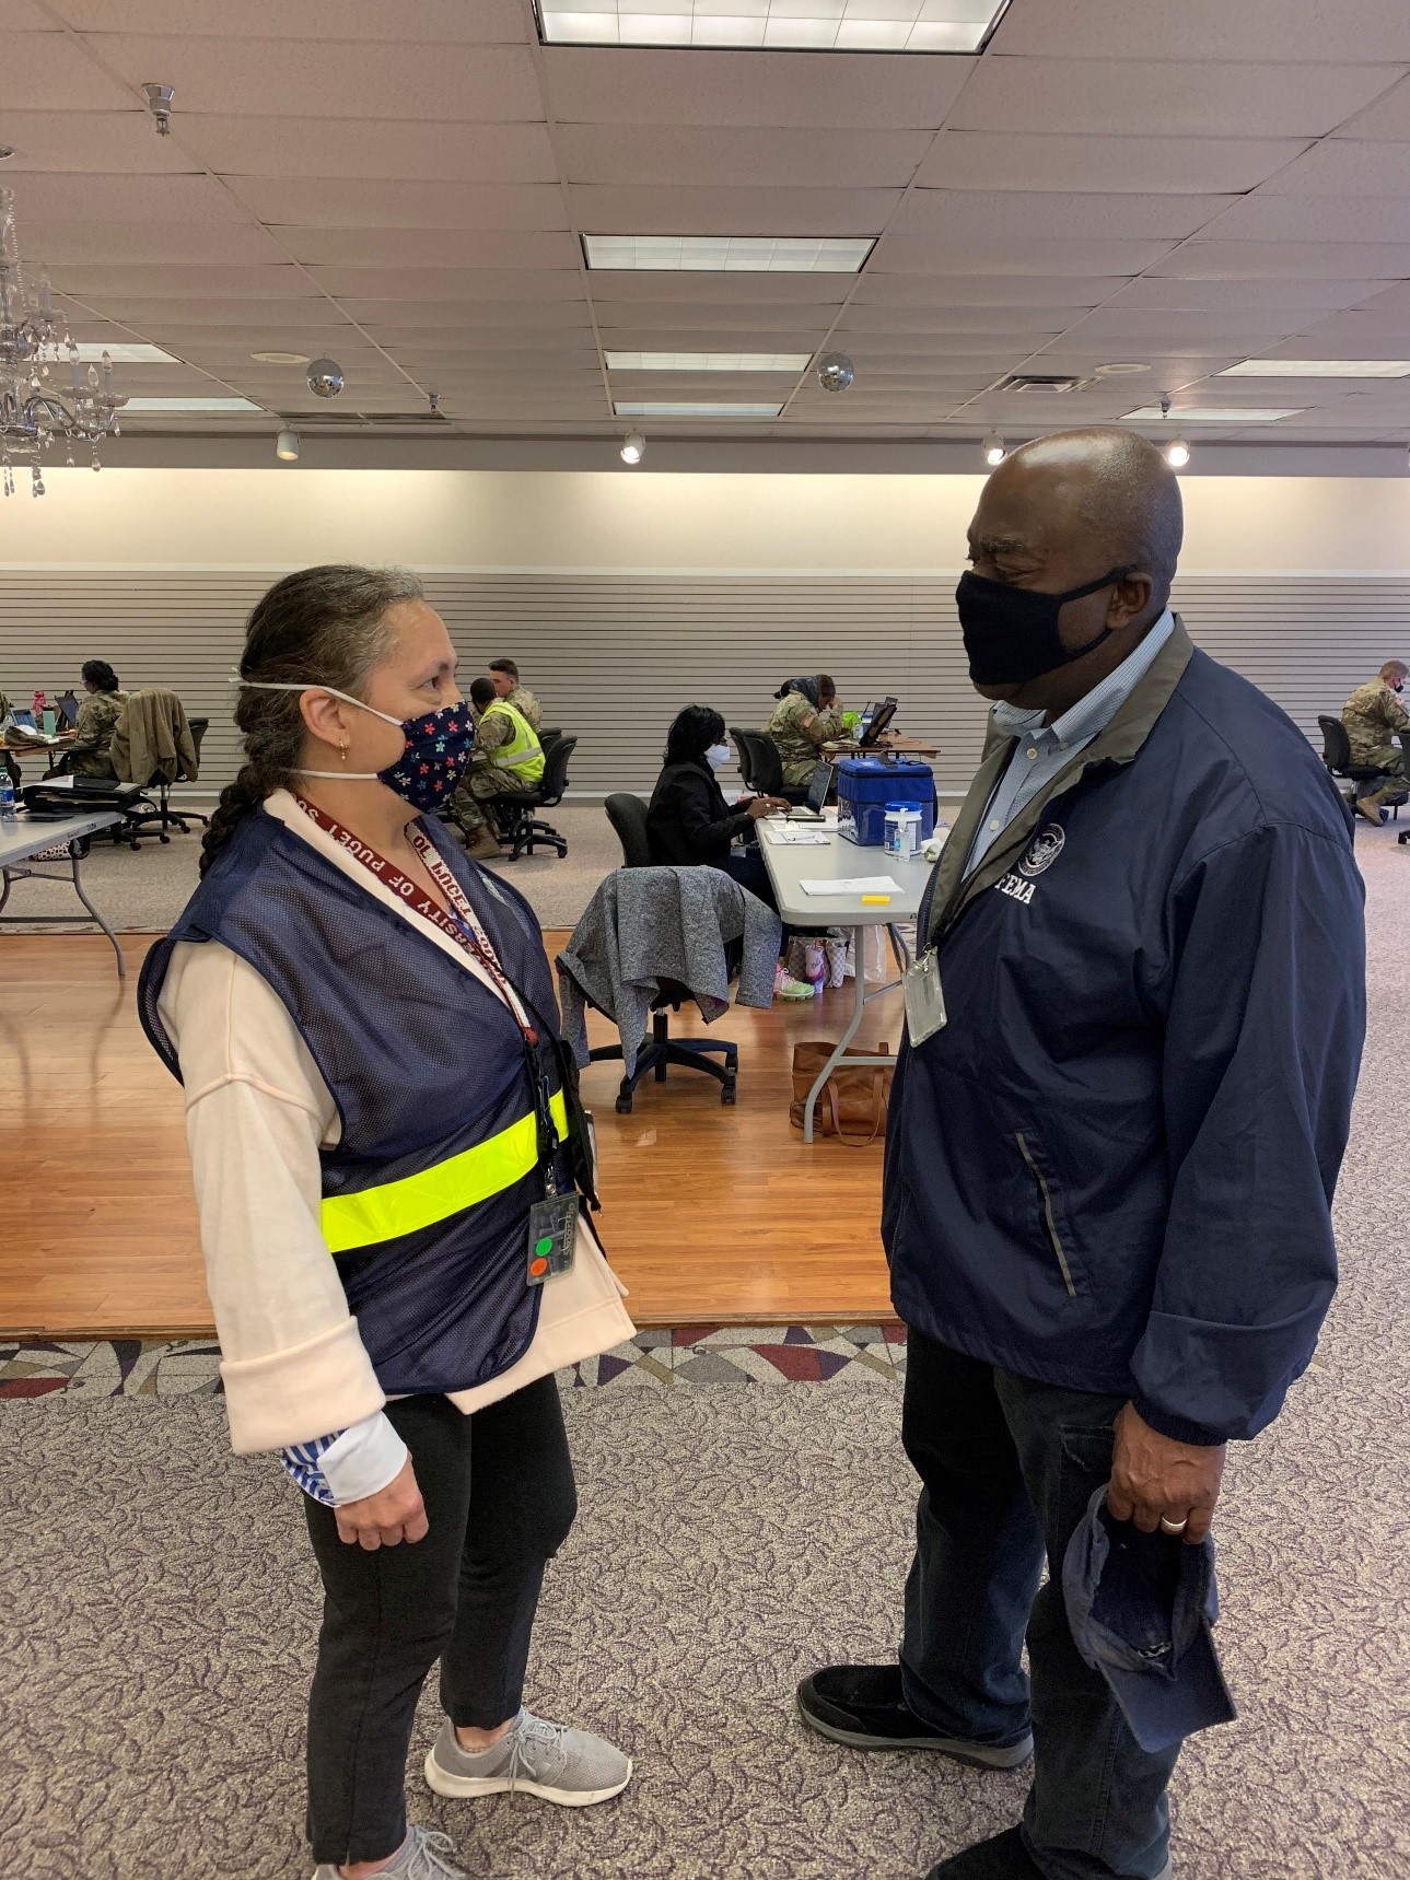
{"label": "shiny orange-brown wooden floor section between the carpeted areas", "polygon": [[[549,949],[564,936],[549,936]],[[0,938],[0,1333],[209,1335],[180,1090],[135,1017],[150,936]],[[739,1104],[694,1072],[647,1083],[619,1117],[620,1066],[592,1066],[600,1230],[643,1325],[874,1324],[891,1318],[878,1235],[882,1151],[788,1126],[793,1042],[837,1038],[852,983],[814,1004],[731,1010]],[[895,1051],[901,995],[878,998],[859,1042]],[[690,1008],[681,1032],[703,1030]],[[615,1036],[594,1019],[592,1042]]]}

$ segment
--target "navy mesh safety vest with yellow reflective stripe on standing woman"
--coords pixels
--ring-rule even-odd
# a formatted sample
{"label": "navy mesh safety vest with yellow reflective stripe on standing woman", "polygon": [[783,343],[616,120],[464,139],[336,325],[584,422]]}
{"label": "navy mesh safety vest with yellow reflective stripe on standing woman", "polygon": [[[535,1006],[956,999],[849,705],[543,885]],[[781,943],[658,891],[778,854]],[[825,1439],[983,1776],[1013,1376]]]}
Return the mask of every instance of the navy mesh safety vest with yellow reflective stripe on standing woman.
{"label": "navy mesh safety vest with yellow reflective stripe on standing woman", "polygon": [[[568,1134],[558,1010],[538,921],[427,820],[538,1032]],[[218,940],[269,981],[342,1119],[321,1226],[387,1395],[470,1389],[534,1337],[528,1207],[543,1196],[528,1058],[504,1002],[267,810],[235,829],[147,955],[139,1013],[180,1077],[158,1000],[182,940]],[[560,1186],[572,1190],[560,1149]]]}

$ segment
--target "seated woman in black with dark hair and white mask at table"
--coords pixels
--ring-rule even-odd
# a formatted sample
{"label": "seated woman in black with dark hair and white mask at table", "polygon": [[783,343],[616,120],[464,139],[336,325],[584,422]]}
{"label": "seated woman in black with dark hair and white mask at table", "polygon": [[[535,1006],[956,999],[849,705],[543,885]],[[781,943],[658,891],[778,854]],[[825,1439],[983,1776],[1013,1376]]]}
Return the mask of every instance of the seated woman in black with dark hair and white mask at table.
{"label": "seated woman in black with dark hair and white mask at table", "polygon": [[[716,771],[729,763],[724,718],[709,705],[686,705],[666,733],[662,775],[650,793],[647,840],[656,867],[722,869],[741,887],[776,910],[769,869],[758,846],[754,825],[773,810],[786,810],[782,797],[741,797],[731,808],[720,790]],[[748,842],[748,848],[735,848]],[[790,978],[782,964],[775,979],[776,998],[810,998],[812,987]]]}

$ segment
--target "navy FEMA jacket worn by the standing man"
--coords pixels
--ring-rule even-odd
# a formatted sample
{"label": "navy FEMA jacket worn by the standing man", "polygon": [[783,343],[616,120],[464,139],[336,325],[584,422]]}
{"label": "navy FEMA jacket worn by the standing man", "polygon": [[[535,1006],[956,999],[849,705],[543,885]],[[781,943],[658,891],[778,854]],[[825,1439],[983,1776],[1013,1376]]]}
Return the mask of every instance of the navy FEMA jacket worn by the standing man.
{"label": "navy FEMA jacket worn by the standing man", "polygon": [[902,1045],[882,1237],[906,1324],[1130,1397],[1186,1442],[1278,1414],[1337,1286],[1365,1034],[1350,814],[1303,733],[1175,622],[1132,697],[921,906],[949,1023]]}

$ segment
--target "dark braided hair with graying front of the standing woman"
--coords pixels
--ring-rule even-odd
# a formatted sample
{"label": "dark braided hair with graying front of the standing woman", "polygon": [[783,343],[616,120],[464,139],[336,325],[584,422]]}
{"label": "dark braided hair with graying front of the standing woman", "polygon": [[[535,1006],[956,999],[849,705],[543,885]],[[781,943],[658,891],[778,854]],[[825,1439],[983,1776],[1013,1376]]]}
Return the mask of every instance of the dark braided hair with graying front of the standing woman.
{"label": "dark braided hair with graying front of the standing woman", "polygon": [[[387,609],[421,600],[408,568],[329,564],[284,575],[254,605],[244,628],[241,679],[335,686],[361,697],[367,681],[393,645]],[[244,733],[244,765],[220,803],[201,842],[201,874],[229,842],[241,818],[299,775],[306,728],[297,692],[252,692],[235,701]]]}

